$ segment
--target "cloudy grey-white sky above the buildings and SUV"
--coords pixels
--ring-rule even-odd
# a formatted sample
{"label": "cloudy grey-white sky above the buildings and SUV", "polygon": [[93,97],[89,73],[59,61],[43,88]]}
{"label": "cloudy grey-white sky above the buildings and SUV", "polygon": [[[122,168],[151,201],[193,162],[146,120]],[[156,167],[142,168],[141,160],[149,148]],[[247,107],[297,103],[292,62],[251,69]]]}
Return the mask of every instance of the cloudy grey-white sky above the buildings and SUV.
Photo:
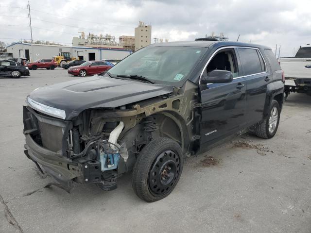
{"label": "cloudy grey-white sky above the buildings and SUV", "polygon": [[[28,1],[0,1],[0,40],[30,39]],[[292,56],[311,43],[311,0],[30,0],[33,38],[70,45],[81,31],[134,35],[138,20],[152,37],[194,40],[212,32],[267,45]],[[66,44],[65,44],[66,43]]]}

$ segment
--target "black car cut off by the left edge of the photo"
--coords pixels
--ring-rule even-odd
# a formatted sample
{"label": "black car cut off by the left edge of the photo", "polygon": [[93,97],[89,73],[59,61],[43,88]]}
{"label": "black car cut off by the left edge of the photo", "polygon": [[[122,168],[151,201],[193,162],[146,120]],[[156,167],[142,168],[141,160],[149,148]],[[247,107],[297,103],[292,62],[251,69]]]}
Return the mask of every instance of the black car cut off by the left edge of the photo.
{"label": "black car cut off by the left edge of the photo", "polygon": [[28,67],[11,60],[0,60],[0,77],[19,78],[28,75],[30,75]]}

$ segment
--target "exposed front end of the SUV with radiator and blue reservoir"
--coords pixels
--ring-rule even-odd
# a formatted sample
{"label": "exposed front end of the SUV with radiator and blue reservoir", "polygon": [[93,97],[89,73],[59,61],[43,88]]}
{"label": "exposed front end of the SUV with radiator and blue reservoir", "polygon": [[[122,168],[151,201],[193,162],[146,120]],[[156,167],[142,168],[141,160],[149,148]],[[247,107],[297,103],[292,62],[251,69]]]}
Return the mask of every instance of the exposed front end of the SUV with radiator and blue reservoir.
{"label": "exposed front end of the SUV with radiator and blue reservoir", "polygon": [[63,120],[32,107],[23,109],[25,154],[39,169],[42,166],[67,189],[73,181],[98,183],[104,190],[117,187],[119,162],[125,163],[128,158],[125,143],[118,141],[122,121],[93,125],[93,111]]}

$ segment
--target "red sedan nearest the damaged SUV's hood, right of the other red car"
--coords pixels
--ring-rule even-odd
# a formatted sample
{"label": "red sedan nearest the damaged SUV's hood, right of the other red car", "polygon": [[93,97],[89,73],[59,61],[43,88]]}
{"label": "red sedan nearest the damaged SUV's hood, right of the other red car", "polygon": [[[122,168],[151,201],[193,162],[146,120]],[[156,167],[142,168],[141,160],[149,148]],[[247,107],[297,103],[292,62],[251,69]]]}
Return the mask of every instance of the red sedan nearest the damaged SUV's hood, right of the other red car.
{"label": "red sedan nearest the damaged SUV's hood, right of the other red car", "polygon": [[86,76],[88,74],[99,74],[113,67],[109,62],[90,61],[82,63],[80,66],[70,67],[68,73],[74,76]]}

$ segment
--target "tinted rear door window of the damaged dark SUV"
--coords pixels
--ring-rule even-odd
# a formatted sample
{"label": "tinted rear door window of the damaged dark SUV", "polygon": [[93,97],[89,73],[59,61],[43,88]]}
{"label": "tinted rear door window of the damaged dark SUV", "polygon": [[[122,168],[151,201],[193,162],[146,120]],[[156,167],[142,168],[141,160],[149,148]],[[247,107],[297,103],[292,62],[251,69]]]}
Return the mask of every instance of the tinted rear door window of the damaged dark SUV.
{"label": "tinted rear door window of the damaged dark SUV", "polygon": [[244,75],[265,72],[264,62],[261,55],[255,49],[238,48]]}

